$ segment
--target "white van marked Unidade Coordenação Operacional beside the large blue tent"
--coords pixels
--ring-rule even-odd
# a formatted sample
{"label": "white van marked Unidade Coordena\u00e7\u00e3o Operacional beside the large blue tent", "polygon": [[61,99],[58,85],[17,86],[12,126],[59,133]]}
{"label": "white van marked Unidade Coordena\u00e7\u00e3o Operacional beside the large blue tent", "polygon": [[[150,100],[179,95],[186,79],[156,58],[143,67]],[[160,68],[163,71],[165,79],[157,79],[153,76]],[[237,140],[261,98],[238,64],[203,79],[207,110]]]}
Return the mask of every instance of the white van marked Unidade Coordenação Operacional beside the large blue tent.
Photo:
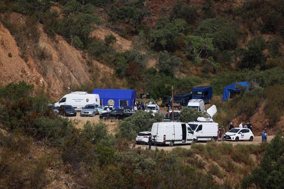
{"label": "white van marked Unidade Coordena\u00e7\u00e3o Operacional beside the large blue tent", "polygon": [[71,105],[76,111],[81,111],[87,104],[100,105],[99,94],[88,94],[88,92],[82,91],[71,92],[64,95],[54,106]]}

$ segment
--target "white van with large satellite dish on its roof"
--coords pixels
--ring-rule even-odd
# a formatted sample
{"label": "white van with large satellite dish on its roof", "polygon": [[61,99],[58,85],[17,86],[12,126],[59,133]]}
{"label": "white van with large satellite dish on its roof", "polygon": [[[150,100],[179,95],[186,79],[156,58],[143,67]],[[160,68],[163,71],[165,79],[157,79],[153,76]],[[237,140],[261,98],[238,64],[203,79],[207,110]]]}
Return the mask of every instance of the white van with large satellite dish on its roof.
{"label": "white van with large satellite dish on its roof", "polygon": [[204,111],[209,118],[198,117],[197,121],[188,123],[194,131],[197,141],[215,141],[218,138],[218,123],[214,123],[212,119],[216,112],[216,106],[212,105],[207,111]]}

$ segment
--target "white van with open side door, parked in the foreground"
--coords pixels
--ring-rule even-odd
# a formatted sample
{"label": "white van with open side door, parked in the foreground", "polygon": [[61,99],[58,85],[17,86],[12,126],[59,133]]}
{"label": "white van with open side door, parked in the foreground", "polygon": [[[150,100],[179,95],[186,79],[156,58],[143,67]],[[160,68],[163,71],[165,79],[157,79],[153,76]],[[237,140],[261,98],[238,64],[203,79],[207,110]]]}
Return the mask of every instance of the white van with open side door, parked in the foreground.
{"label": "white van with open side door, parked in the foreground", "polygon": [[196,135],[187,123],[160,122],[153,123],[151,134],[156,144],[195,144]]}

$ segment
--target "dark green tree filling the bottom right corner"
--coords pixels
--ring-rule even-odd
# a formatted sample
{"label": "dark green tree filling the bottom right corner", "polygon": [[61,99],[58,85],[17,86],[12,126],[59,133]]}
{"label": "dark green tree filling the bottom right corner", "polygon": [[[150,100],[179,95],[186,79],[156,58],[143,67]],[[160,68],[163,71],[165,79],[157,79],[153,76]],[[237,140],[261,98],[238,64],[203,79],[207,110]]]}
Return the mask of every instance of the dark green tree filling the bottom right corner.
{"label": "dark green tree filling the bottom right corner", "polygon": [[284,175],[284,139],[282,133],[277,135],[267,144],[265,154],[261,159],[260,167],[256,167],[250,175],[241,180],[242,188],[283,188]]}

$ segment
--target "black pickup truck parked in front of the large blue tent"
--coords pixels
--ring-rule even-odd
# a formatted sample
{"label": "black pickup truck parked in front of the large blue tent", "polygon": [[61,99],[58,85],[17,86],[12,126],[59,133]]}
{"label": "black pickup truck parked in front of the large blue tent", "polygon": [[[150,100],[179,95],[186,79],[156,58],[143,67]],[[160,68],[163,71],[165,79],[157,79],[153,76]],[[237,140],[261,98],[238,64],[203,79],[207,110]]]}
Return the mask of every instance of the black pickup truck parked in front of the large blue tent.
{"label": "black pickup truck parked in front of the large blue tent", "polygon": [[101,113],[100,114],[100,119],[102,120],[123,120],[125,118],[128,118],[135,112],[130,112],[127,109],[115,109],[110,111],[109,113]]}

